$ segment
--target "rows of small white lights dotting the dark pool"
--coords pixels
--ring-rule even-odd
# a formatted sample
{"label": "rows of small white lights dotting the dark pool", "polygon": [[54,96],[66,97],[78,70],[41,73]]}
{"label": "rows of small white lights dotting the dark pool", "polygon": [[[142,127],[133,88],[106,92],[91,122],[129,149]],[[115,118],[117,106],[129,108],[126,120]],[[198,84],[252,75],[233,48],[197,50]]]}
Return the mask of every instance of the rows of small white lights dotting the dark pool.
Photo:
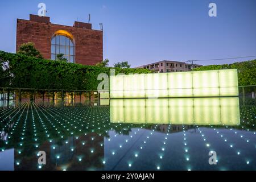
{"label": "rows of small white lights dotting the dark pool", "polygon": [[[65,113],[67,113],[67,114],[69,115],[69,117],[67,117],[65,114],[61,113],[61,112],[63,112],[63,110],[61,110],[61,109],[57,110],[56,112],[57,112],[58,114],[56,114],[56,113],[54,113],[54,112],[52,111],[52,108],[51,108],[51,107],[46,107],[46,106],[40,105],[40,104],[39,104],[39,105],[35,105],[33,102],[27,102],[27,103],[24,103],[24,104],[20,104],[19,106],[14,107],[14,108],[10,109],[9,111],[8,111],[8,110],[3,111],[3,113],[5,113],[5,114],[3,114],[3,116],[5,116],[5,118],[3,119],[3,121],[5,121],[6,119],[9,118],[9,122],[6,123],[5,127],[9,127],[10,125],[13,125],[12,122],[13,122],[14,118],[15,118],[16,115],[19,113],[19,111],[22,110],[22,113],[19,115],[19,117],[18,117],[16,123],[13,125],[13,128],[11,129],[11,133],[10,133],[11,135],[14,134],[14,132],[15,132],[15,130],[16,130],[16,127],[19,125],[20,121],[22,121],[21,119],[22,119],[23,113],[25,114],[24,121],[23,121],[24,123],[23,123],[23,127],[22,127],[22,136],[20,136],[20,139],[21,139],[22,141],[26,138],[26,137],[24,137],[24,135],[25,135],[25,133],[26,133],[26,128],[27,128],[27,118],[28,118],[28,109],[29,109],[29,107],[31,107],[31,110],[32,110],[32,113],[31,113],[31,114],[32,114],[32,126],[33,126],[33,128],[34,128],[34,137],[35,137],[34,140],[35,140],[35,142],[38,141],[38,138],[36,138],[36,137],[37,137],[37,133],[36,133],[37,128],[36,128],[36,123],[35,123],[34,112],[36,112],[36,115],[38,116],[38,118],[39,118],[39,120],[40,120],[40,124],[43,126],[43,129],[44,129],[44,132],[46,133],[46,137],[47,137],[47,138],[50,138],[50,134],[48,133],[48,129],[47,129],[47,127],[46,127],[46,123],[44,123],[44,121],[43,121],[43,119],[41,118],[39,112],[44,115],[44,117],[46,118],[47,122],[49,122],[49,123],[51,124],[51,126],[52,126],[53,128],[55,128],[56,132],[60,135],[61,138],[63,138],[64,136],[61,135],[60,131],[58,131],[58,129],[56,128],[55,124],[51,121],[51,119],[49,119],[49,118],[47,117],[46,114],[44,114],[44,112],[46,112],[47,114],[49,114],[49,115],[53,118],[53,121],[56,121],[57,123],[59,123],[59,124],[61,125],[61,127],[63,126],[63,123],[60,122],[60,121],[58,121],[58,119],[56,119],[56,117],[59,117],[60,119],[62,119],[62,121],[63,121],[64,123],[67,123],[67,120],[65,120],[63,117],[66,117],[66,118],[68,118],[68,119],[71,119],[72,122],[76,123],[76,121],[75,121],[75,120],[73,121],[73,119],[78,119],[80,116],[82,116],[82,113],[83,113],[83,112],[81,112],[81,111],[75,111],[75,112],[74,112],[74,110],[73,110],[73,111],[71,112],[71,111],[67,111],[67,110],[66,110],[67,112],[65,111]],[[34,107],[35,111],[33,111],[33,107]],[[36,109],[36,108],[37,108],[37,109]],[[40,109],[40,108],[41,108],[41,109]],[[56,108],[55,108],[55,109],[56,109]],[[25,110],[26,110],[26,111],[25,111]],[[48,111],[47,111],[47,110],[48,110]],[[16,111],[16,113],[15,113],[15,111]],[[86,111],[86,109],[84,109],[83,111]],[[15,113],[15,114],[14,114],[14,113]],[[54,114],[55,117],[54,117],[51,113]],[[11,114],[14,114],[13,117],[11,117],[11,118],[8,117],[8,115],[11,115]],[[247,115],[247,119],[249,119],[249,117],[252,117],[252,115],[253,115],[253,113],[249,113],[249,111],[247,112],[247,114],[248,114],[248,115]],[[88,116],[88,113],[86,114],[86,116]],[[246,117],[246,116],[244,115],[243,118],[245,118],[245,117]],[[89,118],[91,118],[91,116],[89,116]],[[92,116],[92,118],[94,119],[94,115]],[[85,119],[85,118],[84,118],[84,119]],[[98,119],[98,117],[97,117],[97,119]],[[104,119],[106,119],[106,118],[104,118]],[[3,122],[3,121],[1,121],[1,122]],[[80,121],[81,121],[81,119],[80,119]],[[98,120],[98,121],[99,121],[99,120]],[[253,118],[251,118],[251,121],[253,122]],[[243,120],[242,122],[245,122],[245,121]],[[79,123],[80,123],[80,122],[79,122]],[[94,121],[93,121],[93,123],[94,123]],[[70,124],[70,122],[68,122],[68,124]],[[87,124],[89,125],[89,123],[87,123]],[[247,122],[247,124],[249,124],[249,122]],[[73,126],[72,123],[71,123],[70,125]],[[100,123],[98,122],[97,125],[100,125]],[[110,125],[110,123],[109,123],[109,125]],[[121,125],[121,124],[119,124],[119,125]],[[95,124],[94,124],[93,126],[95,126]],[[105,126],[106,126],[106,125],[104,125],[104,127],[105,127]],[[131,126],[133,126],[133,125],[131,125]],[[253,126],[254,126],[254,123],[253,123]],[[65,128],[66,126],[64,125],[63,127]],[[116,127],[117,127],[117,126],[116,126]],[[130,127],[130,126],[128,126],[128,127]],[[156,129],[156,127],[157,127],[157,125],[155,126],[155,129]],[[170,127],[171,127],[171,125],[168,125],[168,132],[170,131]],[[203,133],[203,131],[200,129],[199,126],[196,126],[196,127],[197,127],[197,130],[199,130],[199,132],[200,132],[200,134],[201,134],[201,137],[203,138],[203,140],[204,140],[204,142],[205,142],[205,146],[206,146],[207,148],[209,148],[209,147],[211,146],[211,144],[210,144],[209,142],[207,142],[207,138],[205,137],[205,134]],[[213,127],[213,126],[212,126],[212,127]],[[243,127],[243,126],[242,126],[242,127]],[[88,128],[88,127],[87,127],[87,128]],[[227,126],[226,126],[226,128],[228,129]],[[74,129],[77,129],[77,127],[74,126]],[[100,128],[98,128],[98,129],[100,129]],[[141,127],[141,129],[143,129],[143,126]],[[150,132],[150,135],[153,135],[153,134],[154,134],[155,129]],[[4,130],[4,129],[3,129],[3,130]],[[66,129],[66,130],[67,130],[67,131],[70,131],[69,129]],[[112,128],[111,130],[113,130],[113,128]],[[230,130],[230,131],[233,131],[234,134],[237,134],[237,131],[235,131],[235,130],[233,130],[233,129],[229,129],[229,130]],[[139,131],[140,131],[140,129],[138,129],[138,131],[136,131],[133,135],[136,135]],[[184,125],[183,125],[183,133],[184,133],[184,134],[183,134],[183,136],[184,136],[183,139],[184,139],[185,160],[186,160],[187,162],[189,162],[189,160],[190,160],[189,147],[188,147],[187,136],[186,136],[185,131],[186,131],[186,130],[185,130]],[[215,128],[214,128],[214,131],[216,131],[216,134],[218,134],[221,138],[224,138],[224,142],[229,143],[229,142],[228,142],[228,139],[226,139],[226,138],[224,137],[224,134],[221,134],[220,131],[218,131],[218,130],[215,129]],[[246,131],[250,131],[250,130],[249,130],[249,129],[246,129]],[[94,132],[94,130],[92,130],[92,132]],[[108,130],[106,130],[105,132],[107,133]],[[120,132],[120,134],[121,134],[121,132]],[[254,132],[253,134],[255,135],[255,132]],[[11,135],[8,137],[9,139],[11,139]],[[72,132],[72,131],[71,131],[71,135],[73,135],[73,132]],[[85,135],[86,135],[86,133],[85,133]],[[133,137],[134,137],[133,135],[130,135],[130,138],[133,138]],[[143,150],[143,145],[145,145],[145,144],[147,143],[147,140],[150,139],[150,135],[148,135],[147,138],[143,141],[143,143],[142,143],[141,146],[139,147],[139,150]],[[164,158],[164,151],[166,150],[165,146],[166,146],[166,144],[167,144],[167,142],[168,142],[168,135],[169,135],[169,133],[167,133],[166,136],[164,137],[163,146],[162,146],[162,148],[160,148],[161,154],[159,155],[159,159],[163,159],[163,158]],[[99,134],[99,136],[101,136],[101,134]],[[117,135],[115,135],[115,137],[117,137]],[[243,135],[240,135],[240,138],[244,138]],[[79,137],[76,137],[76,139],[79,139]],[[94,140],[94,138],[91,138],[91,139]],[[108,140],[110,141],[111,139],[109,138]],[[52,139],[49,139],[49,142],[52,143],[52,141],[53,141]],[[250,143],[250,140],[249,140],[249,139],[245,139],[245,141],[246,141],[246,143]],[[123,143],[128,143],[128,142],[129,142],[129,139],[125,139],[125,141],[124,141]],[[65,143],[68,144],[68,141],[66,141]],[[8,144],[7,141],[6,141],[6,144]],[[82,142],[82,145],[85,145],[85,142]],[[103,144],[102,144],[102,143],[101,143],[100,145],[101,145],[101,147],[103,147]],[[124,145],[124,144],[120,144],[120,145],[119,145],[119,148],[122,148],[123,145]],[[230,148],[233,148],[233,150],[235,150],[235,148],[234,148],[234,147],[235,147],[235,144],[233,144],[232,142],[230,142],[228,145],[229,145]],[[19,146],[23,146],[23,142],[20,142],[20,143],[19,143]],[[39,145],[38,145],[37,143],[35,143],[35,147],[38,148]],[[55,150],[56,146],[52,146],[52,148],[53,148],[53,150]],[[255,146],[255,148],[256,148],[256,146]],[[72,148],[71,148],[71,151],[74,151],[74,150],[75,150],[75,148],[72,147]],[[2,149],[2,151],[4,151],[4,149]],[[209,151],[213,151],[213,150],[209,150]],[[94,150],[93,150],[93,149],[90,149],[90,152],[93,153]],[[237,152],[237,155],[240,155],[240,154],[241,154],[241,149],[237,149],[236,152]],[[18,151],[18,154],[22,154],[22,151],[19,150],[19,151]],[[115,154],[117,154],[117,151],[112,151],[112,155],[115,155]],[[135,153],[134,153],[134,157],[135,157],[135,158],[138,158],[138,157],[139,157],[139,152],[135,152]],[[56,155],[56,159],[60,159],[60,158],[61,158],[60,155]],[[79,162],[81,162],[81,161],[82,161],[82,158],[79,158],[78,160],[79,160]],[[131,161],[132,161],[132,160],[131,160]],[[217,162],[218,162],[218,161],[217,161]],[[102,164],[106,164],[106,163],[107,163],[107,161],[106,161],[105,159],[103,159],[103,160],[102,160]],[[246,159],[246,164],[250,164],[250,159]],[[20,165],[20,161],[19,161],[19,160],[16,161],[16,165],[17,165],[17,166]],[[129,168],[131,168],[131,167],[133,166],[133,162],[128,162],[127,165],[128,165]],[[40,169],[40,168],[42,168],[42,166],[38,166],[38,168]],[[64,168],[64,169],[65,169],[65,168]],[[158,170],[161,169],[160,162],[159,162],[159,164],[156,165],[156,169],[158,169]],[[192,166],[191,166],[190,164],[188,164],[188,168],[187,168],[187,169],[188,169],[188,170],[191,170],[191,169],[192,169]]]}

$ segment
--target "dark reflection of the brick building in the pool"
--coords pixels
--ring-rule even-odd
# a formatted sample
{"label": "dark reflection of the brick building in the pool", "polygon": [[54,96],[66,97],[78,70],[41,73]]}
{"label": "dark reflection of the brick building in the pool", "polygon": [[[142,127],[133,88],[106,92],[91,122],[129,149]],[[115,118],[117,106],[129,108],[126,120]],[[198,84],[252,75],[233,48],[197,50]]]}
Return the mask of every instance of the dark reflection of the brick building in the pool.
{"label": "dark reflection of the brick building in the pool", "polygon": [[[93,138],[93,139],[92,139]],[[102,144],[102,146],[101,146]],[[19,149],[20,150],[20,149]],[[29,150],[24,148],[24,150]],[[32,151],[31,151],[32,150]],[[104,137],[96,133],[69,137],[67,140],[46,141],[40,148],[32,145],[30,151],[24,151],[24,155],[15,151],[15,161],[19,161],[19,166],[15,170],[37,170],[38,169],[38,151],[46,152],[46,165],[44,170],[89,170],[103,169],[102,158],[104,158]],[[93,151],[93,152],[92,152]]]}

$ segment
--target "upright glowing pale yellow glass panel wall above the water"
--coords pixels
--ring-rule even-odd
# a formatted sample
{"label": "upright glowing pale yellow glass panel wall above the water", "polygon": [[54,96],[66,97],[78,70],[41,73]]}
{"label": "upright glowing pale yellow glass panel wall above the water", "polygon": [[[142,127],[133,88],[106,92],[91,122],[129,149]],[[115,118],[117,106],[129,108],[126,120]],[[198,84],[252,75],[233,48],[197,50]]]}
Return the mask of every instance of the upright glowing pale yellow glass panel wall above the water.
{"label": "upright glowing pale yellow glass panel wall above the water", "polygon": [[110,76],[110,98],[238,96],[237,69]]}

